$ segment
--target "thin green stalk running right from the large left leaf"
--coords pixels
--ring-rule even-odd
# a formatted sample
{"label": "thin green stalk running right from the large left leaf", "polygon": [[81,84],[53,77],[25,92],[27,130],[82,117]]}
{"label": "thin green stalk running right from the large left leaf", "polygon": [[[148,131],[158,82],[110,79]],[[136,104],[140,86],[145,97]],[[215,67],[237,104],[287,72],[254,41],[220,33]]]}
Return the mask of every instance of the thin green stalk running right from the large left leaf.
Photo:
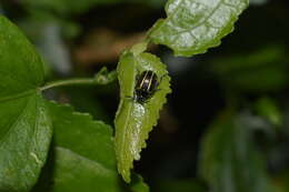
{"label": "thin green stalk running right from the large left leaf", "polygon": [[76,85],[76,84],[99,84],[99,83],[93,78],[59,80],[59,81],[47,83],[46,85],[40,88],[40,91],[46,91],[48,89],[56,88],[56,87]]}

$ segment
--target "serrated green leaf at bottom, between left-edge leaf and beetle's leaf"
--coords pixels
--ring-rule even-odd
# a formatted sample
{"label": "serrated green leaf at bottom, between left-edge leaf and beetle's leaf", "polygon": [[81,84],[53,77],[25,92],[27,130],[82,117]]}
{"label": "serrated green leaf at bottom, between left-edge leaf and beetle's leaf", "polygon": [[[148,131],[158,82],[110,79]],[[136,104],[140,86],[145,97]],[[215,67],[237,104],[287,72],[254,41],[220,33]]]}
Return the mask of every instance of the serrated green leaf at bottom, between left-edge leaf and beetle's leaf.
{"label": "serrated green leaf at bottom, between left-edge leaf and beetle's leaf", "polygon": [[[43,175],[51,176],[43,176],[36,191],[121,191],[112,129],[71,107],[48,105],[54,128],[53,158]],[[43,183],[52,184],[48,190]]]}

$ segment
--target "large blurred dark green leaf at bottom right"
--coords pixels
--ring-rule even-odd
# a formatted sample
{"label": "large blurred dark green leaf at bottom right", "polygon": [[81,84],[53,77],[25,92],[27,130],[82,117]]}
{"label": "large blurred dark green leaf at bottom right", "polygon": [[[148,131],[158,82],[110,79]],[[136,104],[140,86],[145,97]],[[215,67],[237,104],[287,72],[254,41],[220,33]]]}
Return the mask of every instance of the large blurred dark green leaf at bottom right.
{"label": "large blurred dark green leaf at bottom right", "polygon": [[265,162],[242,115],[226,113],[201,144],[200,173],[213,192],[272,192]]}

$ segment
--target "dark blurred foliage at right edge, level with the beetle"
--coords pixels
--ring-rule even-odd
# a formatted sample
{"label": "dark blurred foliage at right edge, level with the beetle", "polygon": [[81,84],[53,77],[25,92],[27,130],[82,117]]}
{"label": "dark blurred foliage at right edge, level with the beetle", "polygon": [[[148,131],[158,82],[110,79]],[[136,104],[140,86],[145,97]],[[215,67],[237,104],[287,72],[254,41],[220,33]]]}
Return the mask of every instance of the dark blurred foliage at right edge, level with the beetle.
{"label": "dark blurred foliage at right edge, level with the beetle", "polygon": [[286,49],[268,46],[250,53],[226,55],[212,60],[212,71],[226,89],[261,93],[288,85]]}

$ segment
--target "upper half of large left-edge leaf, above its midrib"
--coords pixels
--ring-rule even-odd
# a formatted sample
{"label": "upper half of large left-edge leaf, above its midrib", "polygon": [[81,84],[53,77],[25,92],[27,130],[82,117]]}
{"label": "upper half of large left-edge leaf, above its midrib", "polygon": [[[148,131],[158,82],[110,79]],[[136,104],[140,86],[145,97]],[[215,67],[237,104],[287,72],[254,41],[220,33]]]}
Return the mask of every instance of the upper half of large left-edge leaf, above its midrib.
{"label": "upper half of large left-edge leaf, above its midrib", "polygon": [[0,98],[31,94],[43,83],[43,64],[19,29],[0,16]]}

